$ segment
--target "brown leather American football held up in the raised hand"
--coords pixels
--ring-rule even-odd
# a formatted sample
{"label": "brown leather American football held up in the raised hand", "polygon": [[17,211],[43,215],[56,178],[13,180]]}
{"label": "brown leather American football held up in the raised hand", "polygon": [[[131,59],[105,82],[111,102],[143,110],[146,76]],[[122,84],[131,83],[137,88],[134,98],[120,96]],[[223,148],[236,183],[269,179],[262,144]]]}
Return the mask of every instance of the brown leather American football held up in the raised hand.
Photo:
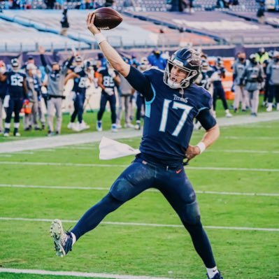
{"label": "brown leather American football held up in the raised hand", "polygon": [[118,13],[116,10],[113,10],[113,8],[97,8],[94,11],[94,14],[96,15],[94,24],[98,29],[101,30],[109,30],[117,27],[123,20],[120,13]]}

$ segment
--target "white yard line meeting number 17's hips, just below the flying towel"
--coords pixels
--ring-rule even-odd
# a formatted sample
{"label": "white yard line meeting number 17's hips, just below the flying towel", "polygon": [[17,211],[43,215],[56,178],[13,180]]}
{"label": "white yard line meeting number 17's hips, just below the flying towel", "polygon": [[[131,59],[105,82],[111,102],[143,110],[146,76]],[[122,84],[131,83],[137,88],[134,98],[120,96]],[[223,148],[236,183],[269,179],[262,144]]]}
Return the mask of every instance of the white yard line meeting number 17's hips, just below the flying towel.
{"label": "white yard line meeting number 17's hips, just below the flying towel", "polygon": [[[27,165],[27,166],[87,166],[87,167],[100,167],[100,168],[127,168],[129,165],[124,164],[75,164],[75,163],[54,163],[54,162],[0,162],[3,165]],[[260,171],[278,173],[279,169],[254,169],[254,168],[222,168],[217,166],[186,166],[187,170],[193,171]]]}

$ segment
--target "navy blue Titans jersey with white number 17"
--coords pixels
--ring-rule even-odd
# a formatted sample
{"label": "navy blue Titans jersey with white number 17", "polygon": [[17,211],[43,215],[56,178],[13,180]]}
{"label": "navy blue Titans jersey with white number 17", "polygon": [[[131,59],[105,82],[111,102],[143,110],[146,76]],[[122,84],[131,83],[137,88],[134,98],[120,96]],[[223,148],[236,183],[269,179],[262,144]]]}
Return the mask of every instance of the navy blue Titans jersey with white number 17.
{"label": "navy blue Titans jersey with white number 17", "polygon": [[[201,110],[209,110],[212,99],[209,92],[198,85],[191,85],[180,94],[180,90],[171,89],[164,83],[163,76],[163,71],[150,69],[145,71],[141,78],[146,90],[148,85],[145,80],[150,83],[153,97],[150,101],[145,101],[145,121],[140,150],[143,154],[172,164],[185,159],[185,152],[192,136],[194,117],[199,115]],[[145,89],[137,88],[140,86],[133,83],[130,74],[127,80],[145,96],[145,99],[149,96],[143,92]]]}

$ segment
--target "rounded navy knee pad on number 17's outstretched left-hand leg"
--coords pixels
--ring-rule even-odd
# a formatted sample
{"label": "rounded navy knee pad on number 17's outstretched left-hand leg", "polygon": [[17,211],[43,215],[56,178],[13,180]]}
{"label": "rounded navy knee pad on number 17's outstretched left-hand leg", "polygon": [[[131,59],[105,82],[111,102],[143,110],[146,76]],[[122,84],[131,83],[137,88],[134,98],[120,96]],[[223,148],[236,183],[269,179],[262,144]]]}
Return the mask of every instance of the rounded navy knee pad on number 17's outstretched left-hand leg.
{"label": "rounded navy knee pad on number 17's outstretched left-hand leg", "polygon": [[110,194],[118,201],[128,201],[134,196],[134,186],[125,178],[118,178],[110,188]]}

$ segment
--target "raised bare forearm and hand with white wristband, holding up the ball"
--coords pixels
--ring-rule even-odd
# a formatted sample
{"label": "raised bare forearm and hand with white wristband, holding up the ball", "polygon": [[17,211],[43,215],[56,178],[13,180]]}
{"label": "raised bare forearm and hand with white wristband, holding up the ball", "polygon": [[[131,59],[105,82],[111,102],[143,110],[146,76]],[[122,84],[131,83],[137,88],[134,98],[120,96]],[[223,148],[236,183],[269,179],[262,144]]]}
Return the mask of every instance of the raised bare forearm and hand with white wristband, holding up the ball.
{"label": "raised bare forearm and hand with white wristband, holding up the ball", "polygon": [[95,14],[94,12],[87,15],[87,28],[96,38],[97,43],[105,55],[108,62],[110,62],[113,68],[122,74],[126,78],[130,71],[130,65],[123,61],[122,57],[117,53],[117,51],[106,41],[106,38],[101,34],[101,31],[94,25]]}

